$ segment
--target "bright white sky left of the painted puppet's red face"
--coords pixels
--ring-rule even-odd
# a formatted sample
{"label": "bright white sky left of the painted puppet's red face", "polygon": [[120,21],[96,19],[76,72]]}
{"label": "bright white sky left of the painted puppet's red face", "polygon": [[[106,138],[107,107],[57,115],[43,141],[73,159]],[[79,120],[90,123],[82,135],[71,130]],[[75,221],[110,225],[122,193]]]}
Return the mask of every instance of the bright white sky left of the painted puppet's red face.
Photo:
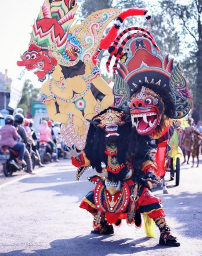
{"label": "bright white sky left of the painted puppet's red face", "polygon": [[[157,2],[157,0],[152,0]],[[15,79],[23,67],[18,67],[20,54],[28,49],[30,32],[34,19],[37,19],[40,6],[44,0],[10,0],[2,1],[0,15],[0,72],[8,69],[8,77]],[[78,3],[81,2],[78,0]],[[148,0],[148,2],[150,2]],[[41,83],[32,71],[27,72],[27,79],[35,87],[40,88]]]}

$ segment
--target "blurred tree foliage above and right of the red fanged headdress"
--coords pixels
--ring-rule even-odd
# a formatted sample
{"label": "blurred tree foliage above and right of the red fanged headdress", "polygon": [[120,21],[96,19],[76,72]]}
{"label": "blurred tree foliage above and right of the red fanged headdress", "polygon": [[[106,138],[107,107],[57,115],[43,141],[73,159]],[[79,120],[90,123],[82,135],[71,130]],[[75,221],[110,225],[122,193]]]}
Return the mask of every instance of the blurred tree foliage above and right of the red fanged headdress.
{"label": "blurred tree foliage above and right of the red fanged headdress", "polygon": [[[180,62],[188,87],[193,96],[192,116],[195,122],[202,119],[202,0],[83,0],[81,16],[86,18],[96,10],[104,8],[146,8],[152,14],[151,27],[155,41],[163,55],[169,53],[174,64]],[[128,26],[143,26],[149,30],[148,22],[141,17],[128,18],[122,29]]]}

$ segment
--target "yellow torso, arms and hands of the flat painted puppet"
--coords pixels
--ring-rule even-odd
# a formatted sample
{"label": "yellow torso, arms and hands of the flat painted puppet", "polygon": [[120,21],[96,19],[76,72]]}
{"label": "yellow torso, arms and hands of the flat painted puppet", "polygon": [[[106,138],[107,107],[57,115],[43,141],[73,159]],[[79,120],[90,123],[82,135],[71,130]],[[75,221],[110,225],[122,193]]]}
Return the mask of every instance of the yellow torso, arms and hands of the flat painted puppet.
{"label": "yellow torso, arms and hands of the flat painted puppet", "polygon": [[[89,126],[86,118],[92,119],[94,115],[112,105],[113,94],[112,89],[99,75],[90,80],[91,82],[88,80],[88,76],[91,76],[89,64],[83,63],[79,72],[79,76],[63,76],[59,81],[50,79],[42,86],[41,91],[50,119],[64,123],[62,131],[66,131],[63,136],[66,144],[71,143],[70,126],[73,125],[72,139],[75,140],[76,135],[77,148],[82,148]],[[54,77],[54,73],[52,76]]]}

